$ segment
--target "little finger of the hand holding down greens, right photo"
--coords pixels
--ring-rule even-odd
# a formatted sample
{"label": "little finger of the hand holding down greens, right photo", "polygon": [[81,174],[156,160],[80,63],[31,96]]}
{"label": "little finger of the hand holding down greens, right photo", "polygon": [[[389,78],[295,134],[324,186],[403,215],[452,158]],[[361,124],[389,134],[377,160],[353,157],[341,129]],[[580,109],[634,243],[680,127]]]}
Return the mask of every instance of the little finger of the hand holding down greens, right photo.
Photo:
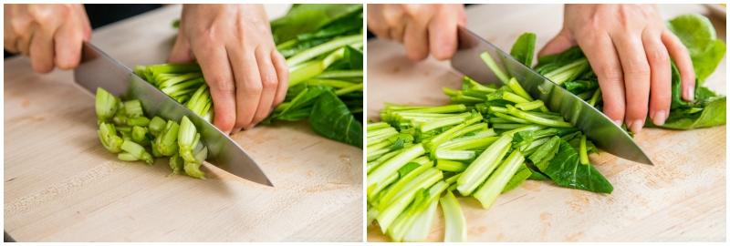
{"label": "little finger of the hand holding down greens, right photo", "polygon": [[694,101],[694,67],[687,47],[682,44],[679,37],[667,29],[662,33],[662,42],[667,47],[669,56],[674,58],[674,65],[682,77],[682,98],[685,101]]}

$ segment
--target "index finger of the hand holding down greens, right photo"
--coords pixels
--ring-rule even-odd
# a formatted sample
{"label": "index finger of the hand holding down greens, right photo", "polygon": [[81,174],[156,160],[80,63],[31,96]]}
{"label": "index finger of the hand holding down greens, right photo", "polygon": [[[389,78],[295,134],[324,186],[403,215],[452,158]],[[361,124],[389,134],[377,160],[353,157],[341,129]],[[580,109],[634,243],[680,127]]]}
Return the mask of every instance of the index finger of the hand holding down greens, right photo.
{"label": "index finger of the hand holding down greens, right photo", "polygon": [[599,78],[603,113],[620,126],[626,109],[623,71],[610,36],[607,33],[595,33],[586,38],[577,38],[577,41]]}

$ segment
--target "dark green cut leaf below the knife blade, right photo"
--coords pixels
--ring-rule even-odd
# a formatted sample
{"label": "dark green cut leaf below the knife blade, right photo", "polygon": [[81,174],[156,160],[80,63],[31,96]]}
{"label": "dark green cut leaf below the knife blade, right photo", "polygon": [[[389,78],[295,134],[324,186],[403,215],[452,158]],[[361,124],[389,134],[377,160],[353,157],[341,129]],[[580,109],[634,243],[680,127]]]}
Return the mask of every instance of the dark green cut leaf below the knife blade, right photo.
{"label": "dark green cut leaf below the knife blade, right photo", "polygon": [[613,191],[609,180],[593,165],[579,163],[578,151],[564,140],[560,141],[558,154],[544,171],[561,187],[609,194]]}

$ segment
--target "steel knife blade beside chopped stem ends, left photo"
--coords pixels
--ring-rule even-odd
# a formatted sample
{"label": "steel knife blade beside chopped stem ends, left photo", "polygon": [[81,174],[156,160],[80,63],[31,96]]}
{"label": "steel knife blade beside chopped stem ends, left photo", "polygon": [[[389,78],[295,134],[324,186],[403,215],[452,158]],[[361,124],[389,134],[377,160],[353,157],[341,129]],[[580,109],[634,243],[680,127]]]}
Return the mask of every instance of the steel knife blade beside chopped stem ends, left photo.
{"label": "steel knife blade beside chopped stem ends, left photo", "polygon": [[148,116],[159,116],[177,122],[187,116],[200,132],[208,147],[208,161],[235,176],[260,184],[274,186],[254,159],[221,130],[199,117],[193,111],[163,94],[162,91],[135,75],[130,68],[114,60],[96,46],[84,43],[81,64],[74,69],[76,82],[96,93],[97,87],[116,97],[139,99]]}

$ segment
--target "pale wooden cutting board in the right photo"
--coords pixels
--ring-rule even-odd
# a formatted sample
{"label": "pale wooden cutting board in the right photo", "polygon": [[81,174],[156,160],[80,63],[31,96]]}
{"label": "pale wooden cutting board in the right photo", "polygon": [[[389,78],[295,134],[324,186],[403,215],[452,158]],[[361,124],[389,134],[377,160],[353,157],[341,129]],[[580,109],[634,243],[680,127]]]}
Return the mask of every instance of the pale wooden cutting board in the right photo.
{"label": "pale wooden cutting board in the right photo", "polygon": [[[709,12],[702,5],[661,5],[662,17]],[[467,26],[509,50],[517,36],[537,34],[537,48],[558,34],[563,5],[474,5]],[[538,20],[538,21],[536,21]],[[725,40],[725,21],[714,19]],[[726,60],[705,82],[725,94]],[[485,67],[486,69],[486,67]],[[368,42],[368,118],[379,120],[383,102],[444,105],[441,87],[459,89],[461,78],[448,61],[413,63],[400,44]],[[407,91],[407,93],[403,93]],[[527,180],[502,194],[490,210],[458,197],[468,241],[725,241],[725,126],[689,131],[649,128],[636,140],[656,166],[608,153],[590,162],[614,186],[610,195]],[[368,241],[390,241],[374,223]],[[427,241],[443,241],[441,207]]]}

